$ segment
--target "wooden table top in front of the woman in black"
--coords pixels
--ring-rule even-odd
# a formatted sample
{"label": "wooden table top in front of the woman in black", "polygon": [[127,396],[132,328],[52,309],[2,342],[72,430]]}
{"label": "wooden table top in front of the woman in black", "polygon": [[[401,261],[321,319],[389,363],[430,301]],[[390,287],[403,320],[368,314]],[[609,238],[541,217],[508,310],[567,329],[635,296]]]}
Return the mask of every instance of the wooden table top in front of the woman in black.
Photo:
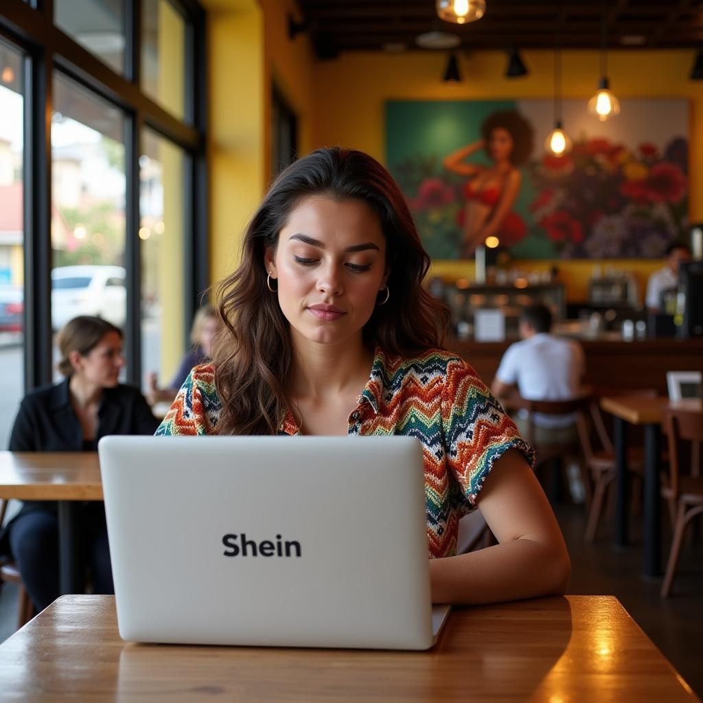
{"label": "wooden table top in front of the woman in black", "polygon": [[0,451],[0,498],[101,501],[98,453]]}

